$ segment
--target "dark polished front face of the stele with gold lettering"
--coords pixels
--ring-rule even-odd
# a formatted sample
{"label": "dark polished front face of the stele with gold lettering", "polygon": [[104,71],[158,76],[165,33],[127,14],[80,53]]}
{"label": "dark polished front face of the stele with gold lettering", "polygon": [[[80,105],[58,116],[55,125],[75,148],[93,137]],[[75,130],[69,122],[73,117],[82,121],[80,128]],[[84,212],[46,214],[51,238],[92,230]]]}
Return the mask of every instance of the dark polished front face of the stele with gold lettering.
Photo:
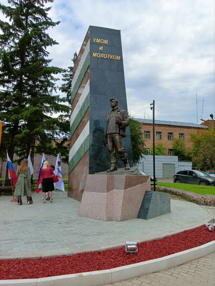
{"label": "dark polished front face of the stele with gold lettering", "polygon": [[[102,40],[106,40],[105,44],[101,43],[103,42]],[[96,57],[95,53],[97,53]],[[100,57],[97,57],[98,53]],[[103,57],[101,57],[102,54]],[[112,59],[110,59],[111,56],[113,56]],[[115,57],[117,59],[114,59]],[[120,59],[118,59],[119,57]],[[104,147],[103,143],[105,140],[104,133],[107,124],[107,114],[111,110],[110,99],[117,98],[119,101],[118,106],[126,110],[128,114],[120,31],[90,27],[89,63],[89,174],[94,174],[110,168],[108,148],[107,146]],[[127,136],[123,139],[123,147],[128,154],[128,160],[132,167],[133,160],[129,128],[126,128],[126,133]],[[118,168],[124,167],[119,156],[117,157]]]}

